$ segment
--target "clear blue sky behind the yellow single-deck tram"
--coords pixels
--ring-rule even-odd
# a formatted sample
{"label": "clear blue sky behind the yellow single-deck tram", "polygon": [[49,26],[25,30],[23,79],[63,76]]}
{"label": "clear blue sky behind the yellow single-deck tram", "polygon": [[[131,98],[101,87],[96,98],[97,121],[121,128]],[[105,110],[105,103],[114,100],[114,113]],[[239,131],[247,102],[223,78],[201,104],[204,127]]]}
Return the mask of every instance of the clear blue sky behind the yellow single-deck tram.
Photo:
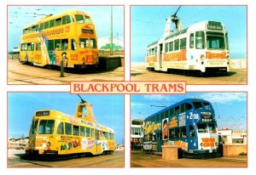
{"label": "clear blue sky behind the yellow single-deck tram", "polygon": [[[123,95],[81,95],[92,104],[96,121],[113,128],[117,144],[124,142],[124,96]],[[9,93],[8,96],[9,136],[28,136],[35,110],[59,110],[73,116],[78,95],[70,93]]]}

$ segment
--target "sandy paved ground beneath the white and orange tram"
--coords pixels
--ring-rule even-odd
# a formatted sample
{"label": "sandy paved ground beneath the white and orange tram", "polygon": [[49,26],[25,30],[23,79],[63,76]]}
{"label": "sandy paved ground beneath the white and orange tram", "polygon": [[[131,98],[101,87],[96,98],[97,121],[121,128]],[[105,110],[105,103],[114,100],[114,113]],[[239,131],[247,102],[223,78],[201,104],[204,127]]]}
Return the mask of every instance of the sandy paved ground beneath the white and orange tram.
{"label": "sandy paved ground beneath the white and orange tram", "polygon": [[183,76],[160,71],[146,71],[144,65],[131,65],[131,81],[186,81],[187,84],[247,84],[247,70],[230,70],[227,76]]}

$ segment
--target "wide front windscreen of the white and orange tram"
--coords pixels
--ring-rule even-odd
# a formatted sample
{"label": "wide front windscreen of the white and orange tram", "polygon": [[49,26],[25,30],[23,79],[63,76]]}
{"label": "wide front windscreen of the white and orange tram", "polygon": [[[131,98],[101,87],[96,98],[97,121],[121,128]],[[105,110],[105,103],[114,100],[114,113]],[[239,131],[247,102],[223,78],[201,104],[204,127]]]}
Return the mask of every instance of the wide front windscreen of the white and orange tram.
{"label": "wide front windscreen of the white and orange tram", "polygon": [[207,36],[207,48],[208,49],[224,49],[224,37]]}

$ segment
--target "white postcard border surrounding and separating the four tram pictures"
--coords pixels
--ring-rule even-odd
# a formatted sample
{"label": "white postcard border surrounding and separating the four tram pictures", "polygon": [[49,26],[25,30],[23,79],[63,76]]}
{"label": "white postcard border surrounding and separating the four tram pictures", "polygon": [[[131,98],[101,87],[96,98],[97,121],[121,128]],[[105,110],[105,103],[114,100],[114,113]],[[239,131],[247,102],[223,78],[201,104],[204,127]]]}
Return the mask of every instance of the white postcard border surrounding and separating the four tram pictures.
{"label": "white postcard border surrounding and separating the four tram pictures", "polygon": [[[188,4],[188,5],[247,5],[247,57],[248,57],[248,64],[247,64],[247,71],[248,71],[248,78],[247,78],[247,85],[190,85],[187,86],[187,92],[191,91],[222,91],[222,92],[229,92],[229,91],[247,91],[248,95],[248,106],[247,106],[247,119],[248,119],[248,164],[247,168],[131,168],[130,167],[130,95],[125,95],[125,168],[7,168],[7,151],[6,151],[6,145],[7,145],[7,92],[9,91],[26,91],[26,92],[33,92],[33,91],[58,91],[58,92],[67,92],[69,91],[68,85],[63,86],[11,86],[7,85],[7,46],[5,46],[5,43],[7,42],[7,4],[16,4],[16,5],[26,5],[26,4],[38,4],[38,5],[58,5],[58,4],[90,4],[90,5],[123,5],[125,4],[125,81],[130,80],[130,5],[180,5],[180,1],[166,1],[166,0],[97,0],[97,1],[79,1],[79,0],[73,0],[73,1],[67,1],[62,0],[61,3],[53,3],[53,1],[49,0],[38,0],[38,1],[32,1],[32,0],[7,0],[3,1],[0,6],[0,19],[1,24],[3,25],[1,27],[1,47],[0,47],[0,54],[1,59],[3,61],[2,64],[0,64],[0,70],[1,70],[1,91],[0,91],[0,97],[1,97],[1,104],[2,104],[2,112],[1,112],[1,139],[2,143],[0,144],[0,155],[1,155],[1,161],[0,161],[0,170],[2,174],[161,174],[161,173],[182,173],[182,174],[249,174],[256,172],[256,167],[254,163],[254,156],[256,155],[254,145],[255,142],[255,133],[256,133],[256,121],[255,116],[253,113],[253,110],[255,109],[256,104],[256,94],[255,94],[255,31],[256,31],[256,25],[255,25],[255,9],[256,9],[256,2],[250,1],[250,0],[236,0],[236,1],[228,1],[228,0],[222,0],[222,1],[205,1],[205,0],[183,0],[182,4]],[[239,19],[237,19],[239,20]],[[5,47],[4,47],[5,46]]]}

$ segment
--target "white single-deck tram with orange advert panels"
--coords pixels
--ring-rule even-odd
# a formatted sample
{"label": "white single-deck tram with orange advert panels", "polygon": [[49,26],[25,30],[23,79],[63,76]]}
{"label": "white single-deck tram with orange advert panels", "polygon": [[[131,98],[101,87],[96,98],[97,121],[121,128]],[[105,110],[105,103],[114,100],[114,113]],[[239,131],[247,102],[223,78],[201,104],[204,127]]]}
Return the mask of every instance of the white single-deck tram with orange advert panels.
{"label": "white single-deck tram with orange advert panels", "polygon": [[[171,32],[171,24],[176,30]],[[148,71],[227,73],[230,71],[228,32],[224,23],[202,21],[181,29],[176,14],[166,20],[164,37],[148,45]]]}

